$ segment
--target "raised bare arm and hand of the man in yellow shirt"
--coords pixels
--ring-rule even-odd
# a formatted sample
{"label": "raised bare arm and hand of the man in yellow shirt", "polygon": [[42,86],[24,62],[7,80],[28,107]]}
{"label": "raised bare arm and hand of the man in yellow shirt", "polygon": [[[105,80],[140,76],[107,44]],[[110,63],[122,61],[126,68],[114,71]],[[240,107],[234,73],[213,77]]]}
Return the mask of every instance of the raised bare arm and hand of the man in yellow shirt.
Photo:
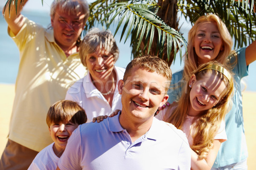
{"label": "raised bare arm and hand of the man in yellow shirt", "polygon": [[15,0],[12,1],[12,4],[10,6],[10,12],[10,0],[8,0],[8,2],[6,3],[6,8],[3,7],[4,19],[6,20],[9,28],[15,35],[17,35],[17,33],[20,31],[20,28],[23,26],[23,15],[20,14],[20,11],[22,10],[23,6],[26,4],[27,1],[28,0],[18,0],[17,12],[15,7]]}

